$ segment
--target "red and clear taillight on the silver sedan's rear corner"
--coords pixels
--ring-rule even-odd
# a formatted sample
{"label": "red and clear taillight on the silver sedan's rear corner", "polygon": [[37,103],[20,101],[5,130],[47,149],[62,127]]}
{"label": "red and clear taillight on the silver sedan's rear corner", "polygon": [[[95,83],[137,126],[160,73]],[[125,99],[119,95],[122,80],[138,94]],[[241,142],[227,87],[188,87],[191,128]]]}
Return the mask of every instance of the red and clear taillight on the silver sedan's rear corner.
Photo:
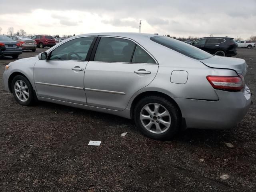
{"label": "red and clear taillight on the silver sedan's rear corner", "polygon": [[240,91],[244,88],[241,76],[207,76],[206,78],[214,89]]}

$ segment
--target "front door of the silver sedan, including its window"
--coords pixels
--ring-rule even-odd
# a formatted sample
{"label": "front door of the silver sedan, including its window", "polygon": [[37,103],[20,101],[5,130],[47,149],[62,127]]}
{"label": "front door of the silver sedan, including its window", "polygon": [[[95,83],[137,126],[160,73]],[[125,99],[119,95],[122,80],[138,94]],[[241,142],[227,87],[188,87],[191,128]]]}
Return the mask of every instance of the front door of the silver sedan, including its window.
{"label": "front door of the silver sedan, including its window", "polygon": [[72,39],[48,53],[34,66],[38,97],[86,105],[84,70],[96,37]]}

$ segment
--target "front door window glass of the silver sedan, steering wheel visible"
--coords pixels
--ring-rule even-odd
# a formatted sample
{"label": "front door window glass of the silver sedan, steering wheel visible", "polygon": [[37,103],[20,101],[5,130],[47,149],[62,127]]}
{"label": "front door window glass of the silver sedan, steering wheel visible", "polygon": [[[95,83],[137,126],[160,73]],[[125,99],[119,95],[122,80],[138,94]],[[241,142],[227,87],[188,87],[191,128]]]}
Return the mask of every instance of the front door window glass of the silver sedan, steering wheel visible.
{"label": "front door window glass of the silver sedan, steering wheel visible", "polygon": [[85,61],[94,38],[82,37],[70,40],[55,48],[50,54],[50,60]]}

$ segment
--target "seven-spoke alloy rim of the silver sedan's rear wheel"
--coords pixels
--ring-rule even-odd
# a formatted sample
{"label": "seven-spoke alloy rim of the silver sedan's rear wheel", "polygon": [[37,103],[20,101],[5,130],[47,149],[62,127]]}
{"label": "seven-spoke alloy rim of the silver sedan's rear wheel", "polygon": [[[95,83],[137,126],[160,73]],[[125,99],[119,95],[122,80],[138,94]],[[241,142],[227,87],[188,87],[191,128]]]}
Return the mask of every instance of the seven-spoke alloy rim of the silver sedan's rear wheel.
{"label": "seven-spoke alloy rim of the silver sedan's rear wheel", "polygon": [[170,128],[171,116],[164,106],[158,103],[149,103],[140,111],[140,121],[149,132],[161,134]]}

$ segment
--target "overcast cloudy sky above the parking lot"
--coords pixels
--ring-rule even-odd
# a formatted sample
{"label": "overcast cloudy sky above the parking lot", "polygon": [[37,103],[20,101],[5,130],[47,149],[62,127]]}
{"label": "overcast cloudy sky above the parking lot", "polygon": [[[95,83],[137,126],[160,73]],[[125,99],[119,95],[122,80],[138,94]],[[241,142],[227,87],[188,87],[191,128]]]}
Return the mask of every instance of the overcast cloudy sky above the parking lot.
{"label": "overcast cloudy sky above the parking lot", "polygon": [[1,34],[141,32],[176,37],[256,35],[256,0],[0,0]]}

